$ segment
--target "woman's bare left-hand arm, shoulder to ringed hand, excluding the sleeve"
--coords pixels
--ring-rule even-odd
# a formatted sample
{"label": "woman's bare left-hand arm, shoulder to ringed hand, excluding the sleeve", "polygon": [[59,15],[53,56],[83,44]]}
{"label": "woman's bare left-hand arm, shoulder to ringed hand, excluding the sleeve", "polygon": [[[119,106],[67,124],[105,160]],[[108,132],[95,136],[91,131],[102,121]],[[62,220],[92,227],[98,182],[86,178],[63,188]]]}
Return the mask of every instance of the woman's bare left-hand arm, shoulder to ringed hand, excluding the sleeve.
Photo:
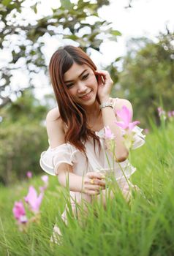
{"label": "woman's bare left-hand arm, shoulder to ringed hand, excluding the sleeve", "polygon": [[[50,110],[46,118],[47,132],[50,148],[56,148],[65,143],[64,125],[61,120],[58,108]],[[99,194],[100,189],[105,188],[105,181],[102,180],[100,173],[87,173],[86,176],[78,176],[73,173],[72,165],[61,163],[55,170],[58,181],[63,187],[69,186],[69,190],[75,192],[84,192],[88,195]],[[95,178],[94,184],[91,184],[91,178]]]}

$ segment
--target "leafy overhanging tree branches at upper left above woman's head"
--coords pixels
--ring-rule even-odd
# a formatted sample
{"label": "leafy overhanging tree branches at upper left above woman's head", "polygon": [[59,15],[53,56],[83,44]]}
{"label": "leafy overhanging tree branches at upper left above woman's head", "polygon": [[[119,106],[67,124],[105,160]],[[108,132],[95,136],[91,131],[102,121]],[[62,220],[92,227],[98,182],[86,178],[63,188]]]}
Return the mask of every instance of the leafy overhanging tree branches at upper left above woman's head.
{"label": "leafy overhanging tree branches at upper left above woman's head", "polygon": [[[9,63],[1,68],[0,90],[3,107],[11,101],[12,94],[35,86],[33,78],[42,69],[47,75],[47,65],[42,47],[46,38],[57,39],[65,44],[69,42],[80,45],[83,50],[99,50],[103,39],[116,39],[120,33],[111,29],[110,23],[99,18],[98,9],[109,4],[109,0],[84,1],[72,3],[60,1],[60,6],[52,8],[51,15],[38,13],[41,1],[32,1],[26,9],[26,1],[4,0],[0,4],[0,49],[7,50]],[[28,3],[29,4],[29,3]],[[23,15],[25,11],[28,15]],[[33,18],[32,18],[33,17]],[[29,78],[22,88],[12,87],[14,70],[21,70]],[[10,96],[11,95],[11,96]]]}

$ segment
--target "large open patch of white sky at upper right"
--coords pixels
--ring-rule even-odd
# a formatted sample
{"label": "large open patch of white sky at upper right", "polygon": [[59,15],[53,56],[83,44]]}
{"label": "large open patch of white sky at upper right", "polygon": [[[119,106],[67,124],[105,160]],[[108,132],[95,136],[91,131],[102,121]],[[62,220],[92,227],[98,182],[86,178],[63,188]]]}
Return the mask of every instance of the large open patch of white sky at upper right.
{"label": "large open patch of white sky at upper right", "polygon": [[156,40],[165,26],[174,31],[173,0],[133,0],[132,8],[125,8],[128,0],[112,0],[109,7],[99,10],[99,15],[121,31],[118,42],[107,42],[101,47],[107,64],[126,54],[126,42],[131,37],[148,37]]}

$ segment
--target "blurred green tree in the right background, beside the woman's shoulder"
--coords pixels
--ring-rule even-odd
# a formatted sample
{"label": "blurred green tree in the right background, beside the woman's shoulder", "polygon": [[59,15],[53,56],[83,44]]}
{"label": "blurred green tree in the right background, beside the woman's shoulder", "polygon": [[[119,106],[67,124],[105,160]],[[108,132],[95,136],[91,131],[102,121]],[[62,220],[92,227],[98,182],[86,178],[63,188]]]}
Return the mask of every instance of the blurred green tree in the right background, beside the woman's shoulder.
{"label": "blurred green tree in the right background, beside the woman's shoulder", "polygon": [[[150,39],[131,39],[124,57],[123,71],[113,94],[126,97],[135,109],[135,118],[143,125],[148,116],[159,123],[157,107],[163,103],[173,110],[174,91],[174,34],[160,34],[158,42]],[[161,102],[162,100],[162,102]]]}

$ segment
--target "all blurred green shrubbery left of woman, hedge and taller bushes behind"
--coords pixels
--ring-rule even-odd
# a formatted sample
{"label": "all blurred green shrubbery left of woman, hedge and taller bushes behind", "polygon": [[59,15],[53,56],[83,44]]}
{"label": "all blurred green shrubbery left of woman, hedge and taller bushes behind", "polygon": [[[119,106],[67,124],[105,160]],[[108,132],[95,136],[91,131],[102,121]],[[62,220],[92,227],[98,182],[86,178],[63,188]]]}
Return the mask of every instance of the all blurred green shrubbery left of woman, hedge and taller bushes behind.
{"label": "all blurred green shrubbery left of woman, hedge and taller bushes behind", "polygon": [[1,109],[0,182],[3,184],[24,178],[30,169],[39,173],[40,153],[48,146],[42,123],[47,110],[29,91]]}

